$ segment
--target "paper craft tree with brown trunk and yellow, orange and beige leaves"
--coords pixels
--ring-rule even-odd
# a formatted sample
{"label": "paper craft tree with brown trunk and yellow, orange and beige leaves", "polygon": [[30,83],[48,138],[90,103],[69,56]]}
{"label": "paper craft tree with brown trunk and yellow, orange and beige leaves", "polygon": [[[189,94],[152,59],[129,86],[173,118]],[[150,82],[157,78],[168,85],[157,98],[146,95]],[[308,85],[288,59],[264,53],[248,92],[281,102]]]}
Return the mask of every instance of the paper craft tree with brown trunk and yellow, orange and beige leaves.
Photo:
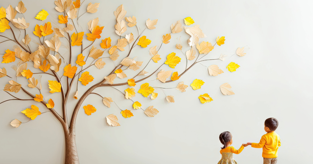
{"label": "paper craft tree with brown trunk and yellow, orange and beige leaves", "polygon": [[[48,2],[50,3],[50,2]],[[80,6],[82,3],[80,3],[80,0],[76,0],[75,2],[72,2],[71,0],[57,0],[54,2],[56,7],[55,9],[60,13],[59,15],[59,27],[64,26],[64,28],[56,28],[54,27],[52,29],[52,25],[50,22],[43,22],[42,25],[33,25],[31,26],[34,28],[33,33],[38,36],[30,38],[28,34],[26,34],[26,28],[29,28],[29,23],[26,23],[25,18],[15,18],[17,12],[18,13],[25,13],[26,8],[24,6],[24,3],[21,1],[18,3],[18,6],[14,9],[11,5],[8,6],[8,8],[3,8],[1,7],[0,9],[0,36],[3,39],[6,39],[2,42],[10,41],[13,43],[13,49],[11,48],[6,48],[7,50],[5,51],[6,53],[3,54],[3,61],[2,63],[8,64],[11,63],[11,68],[16,71],[16,78],[13,78],[7,75],[7,71],[5,68],[0,69],[0,78],[12,78],[12,80],[9,80],[8,83],[4,87],[4,94],[9,94],[13,96],[13,93],[9,92],[15,92],[18,93],[21,89],[23,92],[25,92],[27,95],[31,97],[31,99],[19,99],[15,96],[13,96],[15,99],[10,99],[10,100],[29,100],[29,105],[25,106],[25,110],[21,111],[24,113],[27,117],[30,118],[30,120],[34,120],[37,117],[40,117],[42,113],[40,112],[41,109],[38,108],[38,103],[44,104],[44,106],[51,111],[51,113],[60,121],[60,123],[63,126],[64,129],[64,135],[65,135],[65,163],[66,164],[77,164],[79,163],[78,159],[78,154],[76,150],[76,143],[75,143],[75,123],[76,123],[76,117],[78,115],[78,112],[81,108],[81,105],[83,101],[86,99],[86,97],[90,94],[96,94],[93,93],[92,91],[95,90],[98,87],[102,86],[120,86],[124,85],[127,86],[125,90],[125,98],[126,99],[132,99],[136,92],[135,89],[132,88],[136,85],[136,83],[139,83],[153,74],[155,74],[162,66],[163,64],[167,64],[171,68],[175,68],[177,64],[181,62],[181,58],[178,57],[174,52],[169,53],[167,55],[167,60],[165,63],[161,64],[160,67],[155,69],[154,72],[148,73],[144,69],[146,66],[149,64],[149,62],[152,60],[155,63],[158,63],[158,61],[161,60],[161,58],[165,58],[164,55],[159,55],[158,51],[161,48],[162,44],[168,44],[171,39],[171,33],[163,35],[162,38],[162,44],[160,45],[160,48],[157,49],[157,46],[153,46],[150,48],[149,52],[151,55],[150,61],[147,63],[147,65],[144,68],[141,68],[141,65],[143,64],[142,61],[137,61],[135,59],[131,59],[131,52],[133,48],[138,45],[141,46],[142,48],[146,48],[148,45],[151,44],[151,40],[148,39],[148,37],[144,36],[143,33],[146,30],[146,28],[152,30],[155,29],[155,25],[157,24],[157,19],[146,20],[146,28],[139,33],[139,29],[136,25],[136,17],[126,17],[126,10],[124,9],[123,5],[119,6],[116,11],[114,11],[114,15],[116,18],[116,24],[115,24],[115,33],[120,36],[120,39],[117,39],[116,45],[112,45],[111,43],[111,38],[105,38],[102,40],[102,43],[100,44],[101,49],[96,49],[96,47],[93,45],[96,39],[100,39],[101,36],[100,34],[102,33],[102,30],[104,27],[100,27],[98,25],[98,18],[90,20],[87,25],[89,32],[86,33],[87,39],[91,42],[90,45],[84,48],[82,42],[83,38],[86,37],[84,34],[84,31],[79,32],[77,30],[74,19],[78,17],[78,11],[80,10]],[[87,12],[88,13],[96,13],[97,8],[99,7],[99,3],[89,3],[87,7]],[[85,10],[85,9],[82,9]],[[21,15],[21,14],[20,14]],[[35,17],[36,19],[44,21],[47,16],[49,16],[49,13],[45,10],[42,10],[38,13],[38,15]],[[79,17],[78,17],[79,18]],[[78,25],[78,18],[76,24]],[[57,18],[56,18],[57,19]],[[69,20],[70,19],[70,20]],[[126,22],[127,25],[126,25]],[[184,22],[186,25],[191,25],[194,23],[192,18],[187,17],[184,19]],[[11,24],[10,24],[11,23]],[[72,24],[71,24],[72,23]],[[25,31],[24,38],[21,40],[16,38],[16,35],[13,31],[13,26],[15,28],[19,29],[24,29],[22,30]],[[128,26],[128,27],[127,27]],[[132,33],[125,34],[127,28],[131,27],[137,27],[138,34],[137,37],[134,38],[134,35]],[[190,68],[192,68],[193,65],[205,61],[201,60],[204,56],[206,56],[211,50],[213,50],[214,46],[217,44],[218,46],[221,46],[224,44],[225,37],[217,38],[216,43],[212,45],[209,42],[199,42],[199,38],[205,38],[207,37],[202,30],[199,28],[200,25],[194,25],[194,26],[185,26],[182,28],[182,23],[178,20],[177,22],[173,23],[171,25],[171,30],[172,33],[180,33],[185,30],[187,34],[189,34],[191,37],[188,39],[188,44],[191,47],[191,49],[187,50],[186,53],[184,54],[184,57],[186,58],[186,69],[185,70],[179,70],[182,73],[178,74],[177,72],[173,72],[172,70],[165,71],[161,69],[157,73],[157,79],[160,80],[163,83],[168,83],[172,81],[178,80],[183,74],[185,74]],[[168,27],[169,29],[170,27]],[[11,30],[12,34],[14,36],[14,39],[9,38],[9,36],[5,36],[3,34],[4,31],[6,30]],[[54,34],[53,34],[54,33]],[[53,35],[51,35],[53,34]],[[53,37],[52,37],[53,36]],[[47,38],[50,37],[50,40]],[[43,38],[43,39],[41,39]],[[46,39],[45,39],[46,38]],[[33,40],[33,41],[32,41]],[[39,40],[39,44],[36,45],[37,43],[35,40]],[[61,42],[63,40],[63,42]],[[34,44],[31,47],[36,47],[36,49],[30,49],[29,45]],[[0,43],[2,43],[0,42]],[[67,43],[68,42],[68,43]],[[69,44],[69,53],[68,56],[61,56],[59,54],[59,48],[61,44]],[[119,59],[119,52],[120,51],[125,51],[125,47],[129,44],[129,53],[124,59]],[[90,49],[89,55],[84,56],[84,52],[87,48],[92,46]],[[99,45],[98,45],[99,46]],[[73,56],[72,54],[72,49],[73,48],[78,48],[81,49],[81,53],[78,54],[77,56]],[[177,44],[176,48],[182,51],[182,45]],[[105,50],[108,49],[108,54],[104,55]],[[199,54],[197,54],[197,49]],[[243,53],[244,47],[243,48],[238,48],[236,54],[239,56],[244,56],[245,53]],[[103,57],[103,56],[108,56],[108,57]],[[94,61],[89,64],[89,66],[85,66],[87,58],[93,58]],[[197,58],[196,58],[197,57]],[[110,58],[108,60],[113,60],[116,62],[118,59],[121,61],[120,64],[118,64],[114,69],[112,69],[112,72],[107,74],[107,76],[104,77],[103,80],[98,82],[97,84],[93,86],[89,86],[90,82],[94,80],[93,74],[90,74],[87,69],[93,65],[95,65],[98,69],[103,69],[105,67],[105,62],[103,61],[104,58]],[[199,59],[198,59],[199,58]],[[137,58],[137,59],[140,59]],[[224,60],[225,56],[221,55],[220,60]],[[16,65],[12,65],[12,62],[15,62],[17,60]],[[75,61],[76,60],[76,61]],[[187,61],[188,60],[193,60],[193,64],[187,67]],[[213,59],[206,59],[206,60],[213,60]],[[216,59],[214,59],[216,60]],[[75,61],[75,63],[74,63]],[[31,64],[30,69],[28,69]],[[33,66],[32,66],[33,65]],[[62,66],[61,66],[62,65]],[[27,67],[28,66],[28,67]],[[60,69],[64,68],[64,69]],[[125,66],[125,67],[124,67]],[[33,68],[34,67],[34,68]],[[134,71],[138,71],[138,74],[132,78],[127,77],[127,75],[123,72],[122,67],[126,69],[132,69]],[[227,68],[229,71],[233,72],[236,71],[236,69],[239,67],[238,64],[235,64],[231,62]],[[109,68],[106,68],[109,69]],[[165,69],[165,68],[164,68]],[[125,69],[124,69],[125,70]],[[33,73],[39,72],[39,73]],[[64,71],[64,72],[62,72]],[[60,73],[61,72],[61,73]],[[208,72],[210,75],[217,76],[218,74],[223,73],[221,69],[217,65],[211,65],[208,67]],[[37,76],[37,79],[33,77],[34,74],[50,74],[49,79],[50,80],[41,80],[41,75]],[[60,75],[62,75],[60,77]],[[22,86],[19,84],[18,77],[26,77],[28,79],[28,87],[27,86]],[[137,77],[138,76],[138,77]],[[142,78],[139,78],[139,77]],[[170,80],[167,80],[171,76]],[[78,78],[76,78],[78,77]],[[115,84],[114,79],[118,77],[121,79],[127,79],[127,82],[125,80],[124,83],[119,83]],[[63,79],[62,79],[63,78]],[[66,78],[66,79],[65,79]],[[76,79],[75,79],[76,78]],[[15,81],[13,80],[15,79]],[[61,80],[62,79],[62,80]],[[79,95],[78,90],[76,92],[71,91],[72,85],[76,83],[75,81],[78,80],[81,82],[82,85],[85,85],[86,87],[90,87],[83,95]],[[77,81],[77,83],[78,83]],[[181,92],[185,92],[186,88],[188,87],[187,85],[184,84],[184,82],[177,82],[177,90],[180,90]],[[192,84],[190,85],[193,90],[200,89],[201,86],[204,84],[204,82],[200,79],[195,79]],[[42,88],[48,88],[50,89],[50,94],[59,94],[62,96],[62,101],[61,102],[54,102],[52,99],[45,99],[44,96],[49,97],[49,95],[42,95],[41,90]],[[84,86],[84,87],[85,87]],[[33,90],[31,88],[37,88],[39,90],[39,95],[30,93],[28,90],[32,90],[34,92],[37,92],[36,90]],[[234,93],[230,89],[231,86],[228,83],[225,83],[220,86],[221,92],[224,95],[233,95]],[[58,93],[61,92],[61,93]],[[154,92],[154,88],[149,86],[148,83],[143,83],[141,85],[141,88],[137,91],[139,94],[141,94],[144,97],[151,97],[152,100],[157,98],[157,93]],[[123,92],[122,92],[123,93]],[[73,95],[71,95],[73,94]],[[107,107],[110,108],[111,102],[113,100],[110,97],[103,97],[100,94],[97,94],[101,96],[103,100],[103,104]],[[200,95],[198,97],[200,99],[201,103],[207,103],[212,101],[213,99],[206,93],[203,95]],[[69,99],[78,99],[76,107],[73,111],[72,118],[68,122],[67,118],[67,110],[66,110],[66,103],[67,100]],[[48,100],[48,101],[46,101]],[[169,95],[166,97],[166,100],[170,102],[174,102],[174,96]],[[6,100],[9,101],[9,100]],[[6,102],[3,101],[3,102]],[[37,101],[37,102],[36,102]],[[2,103],[3,103],[2,102]],[[0,103],[1,104],[1,103]],[[27,104],[27,103],[25,103]],[[54,110],[54,106],[59,105],[62,106],[63,113],[57,113]],[[61,105],[60,105],[61,104]],[[141,109],[141,103],[138,101],[133,103],[133,108],[134,109]],[[30,107],[30,108],[29,108]],[[87,105],[83,106],[83,109],[85,110],[85,114],[91,115],[92,113],[96,112],[96,108],[93,105]],[[143,110],[143,109],[142,109]],[[154,117],[155,115],[158,114],[158,110],[154,108],[153,106],[149,106],[146,110],[144,110],[144,113],[148,117]],[[115,115],[108,115],[106,116],[107,123],[110,126],[120,126],[118,123],[118,117],[132,117],[133,114],[131,110],[121,110],[121,115],[120,116],[115,116]],[[14,127],[19,127],[22,124],[21,121],[18,119],[15,119],[11,122],[11,125]]]}

